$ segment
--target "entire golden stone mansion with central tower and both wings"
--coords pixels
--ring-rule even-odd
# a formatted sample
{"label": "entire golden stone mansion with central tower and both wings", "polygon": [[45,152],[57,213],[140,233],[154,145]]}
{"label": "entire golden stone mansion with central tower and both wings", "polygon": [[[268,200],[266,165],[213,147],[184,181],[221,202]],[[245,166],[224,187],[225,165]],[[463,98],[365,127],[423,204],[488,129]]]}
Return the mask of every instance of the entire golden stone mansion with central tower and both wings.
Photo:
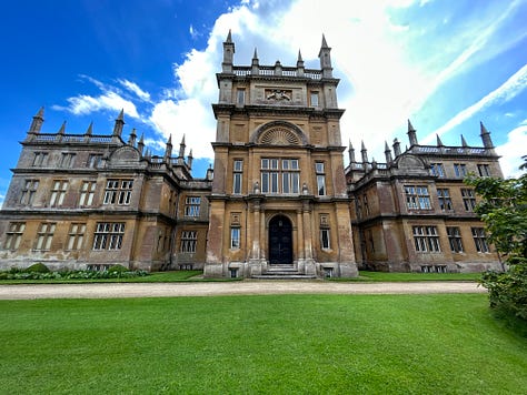
{"label": "entire golden stone mansion with central tower and both wings", "polygon": [[223,42],[213,169],[192,176],[192,152],[169,138],[153,155],[136,130],[42,132],[32,120],[0,211],[0,269],[203,270],[208,277],[352,277],[358,270],[475,272],[499,269],[474,172],[503,176],[490,133],[481,145],[386,143],[385,161],[341,142],[330,48],[319,69],[235,65]]}

